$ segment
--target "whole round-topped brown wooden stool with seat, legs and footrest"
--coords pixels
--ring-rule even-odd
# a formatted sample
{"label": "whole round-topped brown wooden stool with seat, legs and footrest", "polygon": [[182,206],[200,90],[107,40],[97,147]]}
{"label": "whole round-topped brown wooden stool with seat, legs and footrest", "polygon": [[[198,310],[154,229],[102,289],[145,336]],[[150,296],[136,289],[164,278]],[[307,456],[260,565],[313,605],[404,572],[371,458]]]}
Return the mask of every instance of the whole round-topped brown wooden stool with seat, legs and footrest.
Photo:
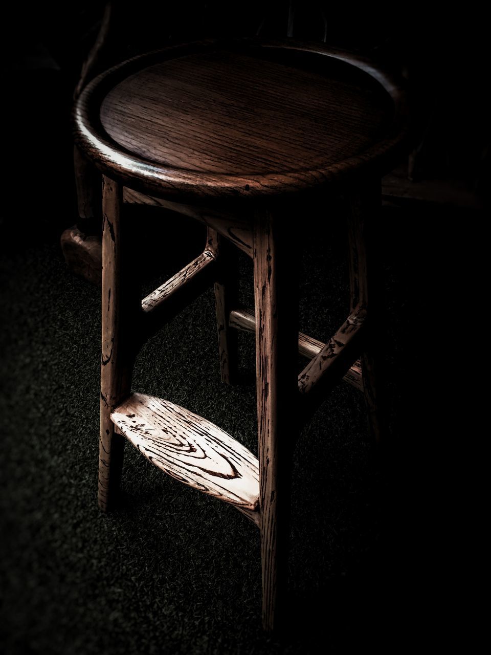
{"label": "whole round-topped brown wooden stool with seat, legs and footrest", "polygon": [[[203,41],[139,56],[96,78],[75,107],[77,145],[104,176],[100,506],[118,493],[122,436],[236,506],[261,530],[265,629],[280,616],[289,458],[302,422],[344,376],[364,390],[380,433],[365,232],[406,134],[405,97],[388,75],[295,41]],[[351,305],[323,344],[299,334],[297,259],[302,232],[315,229],[312,204],[336,220],[329,197],[339,193],[350,208]],[[143,300],[126,267],[124,194],[208,225],[204,252]],[[255,314],[236,305],[230,242],[253,258]],[[131,392],[139,347],[211,284],[223,381],[236,365],[234,328],[256,333],[259,459],[206,419]],[[299,352],[310,359],[300,375]]]}

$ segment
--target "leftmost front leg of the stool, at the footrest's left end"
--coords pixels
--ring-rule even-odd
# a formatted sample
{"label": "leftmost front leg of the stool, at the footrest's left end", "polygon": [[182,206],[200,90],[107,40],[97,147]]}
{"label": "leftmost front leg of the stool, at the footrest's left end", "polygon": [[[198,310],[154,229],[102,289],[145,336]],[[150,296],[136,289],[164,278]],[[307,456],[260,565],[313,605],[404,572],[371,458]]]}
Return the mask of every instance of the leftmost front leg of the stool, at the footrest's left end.
{"label": "leftmost front leg of the stool, at the footrest's left end", "polygon": [[[120,209],[122,187],[103,178],[102,233],[102,352],[101,413],[99,447],[99,506],[108,510],[117,499],[124,438],[115,434],[111,412],[130,394],[134,346],[130,345],[132,303],[136,303],[133,284],[122,276],[122,238]],[[132,293],[133,291],[133,293]],[[141,307],[141,301],[140,301]],[[133,310],[133,313],[132,313]]]}

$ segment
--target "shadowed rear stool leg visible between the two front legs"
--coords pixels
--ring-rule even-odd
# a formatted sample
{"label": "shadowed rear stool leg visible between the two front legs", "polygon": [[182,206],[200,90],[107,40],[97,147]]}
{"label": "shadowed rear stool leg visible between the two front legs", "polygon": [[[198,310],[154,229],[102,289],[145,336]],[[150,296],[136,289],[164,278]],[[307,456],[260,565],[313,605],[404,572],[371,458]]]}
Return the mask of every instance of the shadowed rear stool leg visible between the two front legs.
{"label": "shadowed rear stool leg visible between the two front legs", "polygon": [[[219,278],[215,282],[215,308],[217,312],[218,347],[222,382],[234,384],[238,369],[238,335],[230,327],[230,310],[236,307],[238,299],[238,261],[234,246],[208,228],[213,235],[215,250],[219,256]],[[236,250],[236,249],[235,249]]]}

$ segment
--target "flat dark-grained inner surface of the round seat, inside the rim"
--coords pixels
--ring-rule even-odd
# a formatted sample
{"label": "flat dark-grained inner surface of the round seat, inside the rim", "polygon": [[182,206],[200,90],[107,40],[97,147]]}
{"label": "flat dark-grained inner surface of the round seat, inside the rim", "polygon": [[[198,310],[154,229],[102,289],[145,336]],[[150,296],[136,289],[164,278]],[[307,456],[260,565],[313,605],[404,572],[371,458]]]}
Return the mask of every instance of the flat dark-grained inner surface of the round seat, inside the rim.
{"label": "flat dark-grained inner surface of the round seat, inside the rim", "polygon": [[101,123],[115,143],[166,168],[240,176],[325,168],[373,145],[391,119],[376,85],[360,89],[333,70],[225,50],[187,54],[118,83]]}

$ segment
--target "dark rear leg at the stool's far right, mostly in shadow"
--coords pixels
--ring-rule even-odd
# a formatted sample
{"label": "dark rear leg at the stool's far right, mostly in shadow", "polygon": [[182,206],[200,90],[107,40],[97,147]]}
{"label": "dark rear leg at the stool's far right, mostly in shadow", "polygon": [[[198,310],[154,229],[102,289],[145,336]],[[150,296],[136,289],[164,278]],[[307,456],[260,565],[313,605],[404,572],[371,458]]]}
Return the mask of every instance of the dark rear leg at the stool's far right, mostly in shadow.
{"label": "dark rear leg at the stool's far right, mostly in shadow", "polygon": [[367,309],[367,333],[361,356],[361,372],[369,426],[374,439],[382,441],[386,417],[380,398],[380,350],[383,325],[380,318],[380,289],[374,267],[373,223],[380,215],[380,179],[369,177],[357,180],[350,187],[348,211],[348,240],[350,248],[351,307]]}

